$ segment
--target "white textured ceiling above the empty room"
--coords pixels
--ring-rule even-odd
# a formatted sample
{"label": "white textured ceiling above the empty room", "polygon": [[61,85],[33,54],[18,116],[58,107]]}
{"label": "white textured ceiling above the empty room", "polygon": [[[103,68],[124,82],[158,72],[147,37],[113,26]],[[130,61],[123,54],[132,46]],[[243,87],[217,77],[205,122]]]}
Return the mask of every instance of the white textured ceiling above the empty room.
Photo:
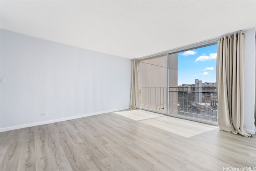
{"label": "white textured ceiling above the empty room", "polygon": [[0,28],[132,59],[256,28],[256,0],[1,0]]}

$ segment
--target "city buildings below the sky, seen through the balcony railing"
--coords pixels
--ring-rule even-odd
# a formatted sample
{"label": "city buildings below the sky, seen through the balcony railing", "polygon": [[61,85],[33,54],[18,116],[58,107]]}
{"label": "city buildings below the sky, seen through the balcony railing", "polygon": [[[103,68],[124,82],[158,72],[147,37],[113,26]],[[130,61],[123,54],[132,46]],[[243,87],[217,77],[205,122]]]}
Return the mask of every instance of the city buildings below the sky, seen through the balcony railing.
{"label": "city buildings below the sky, seen through the balcony railing", "polygon": [[[173,90],[174,87],[169,87],[169,89]],[[172,90],[171,92],[174,92]],[[217,121],[216,82],[202,82],[196,79],[195,84],[182,84],[177,90],[178,114]]]}

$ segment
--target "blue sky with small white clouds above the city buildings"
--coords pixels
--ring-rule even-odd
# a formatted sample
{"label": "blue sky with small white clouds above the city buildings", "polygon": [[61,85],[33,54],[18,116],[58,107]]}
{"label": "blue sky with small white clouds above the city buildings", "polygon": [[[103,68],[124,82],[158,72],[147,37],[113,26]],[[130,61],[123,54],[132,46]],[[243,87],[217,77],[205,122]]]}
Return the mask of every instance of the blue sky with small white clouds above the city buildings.
{"label": "blue sky with small white clouds above the city buildings", "polygon": [[216,82],[217,44],[178,53],[178,85]]}

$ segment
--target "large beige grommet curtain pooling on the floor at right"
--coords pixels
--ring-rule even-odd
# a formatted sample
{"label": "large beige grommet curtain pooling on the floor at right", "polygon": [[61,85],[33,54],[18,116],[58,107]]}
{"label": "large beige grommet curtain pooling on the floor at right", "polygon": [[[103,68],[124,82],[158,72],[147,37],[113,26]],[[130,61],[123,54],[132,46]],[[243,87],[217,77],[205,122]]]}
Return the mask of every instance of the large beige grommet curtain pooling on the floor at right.
{"label": "large beige grommet curtain pooling on the floor at right", "polygon": [[218,40],[218,126],[220,130],[250,137],[244,131],[244,42],[244,32]]}

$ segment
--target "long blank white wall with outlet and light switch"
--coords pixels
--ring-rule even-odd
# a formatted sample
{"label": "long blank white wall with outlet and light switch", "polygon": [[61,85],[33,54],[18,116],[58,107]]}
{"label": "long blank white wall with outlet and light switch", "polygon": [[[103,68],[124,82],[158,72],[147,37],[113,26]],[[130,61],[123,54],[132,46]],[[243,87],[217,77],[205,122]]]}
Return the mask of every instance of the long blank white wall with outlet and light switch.
{"label": "long blank white wall with outlet and light switch", "polygon": [[0,43],[0,131],[129,107],[130,59],[2,29]]}

